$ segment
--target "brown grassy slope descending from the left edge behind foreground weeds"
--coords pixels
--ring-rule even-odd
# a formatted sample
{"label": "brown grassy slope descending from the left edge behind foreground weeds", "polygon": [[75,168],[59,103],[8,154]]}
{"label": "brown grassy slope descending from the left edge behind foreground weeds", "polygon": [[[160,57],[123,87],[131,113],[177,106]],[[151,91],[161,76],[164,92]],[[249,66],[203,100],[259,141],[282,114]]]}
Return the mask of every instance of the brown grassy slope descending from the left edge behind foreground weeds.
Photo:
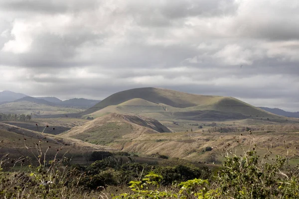
{"label": "brown grassy slope descending from the left edge behind foreground weeds", "polygon": [[[42,143],[42,151],[50,146],[49,155],[54,155],[57,149],[63,149],[62,154],[70,151],[70,154],[83,154],[86,150],[113,150],[106,146],[93,145],[73,138],[61,138],[47,133],[20,128],[0,122],[0,155],[32,156],[32,149],[36,151],[36,143]],[[60,155],[62,155],[60,154]],[[54,157],[54,156],[52,156]]]}

